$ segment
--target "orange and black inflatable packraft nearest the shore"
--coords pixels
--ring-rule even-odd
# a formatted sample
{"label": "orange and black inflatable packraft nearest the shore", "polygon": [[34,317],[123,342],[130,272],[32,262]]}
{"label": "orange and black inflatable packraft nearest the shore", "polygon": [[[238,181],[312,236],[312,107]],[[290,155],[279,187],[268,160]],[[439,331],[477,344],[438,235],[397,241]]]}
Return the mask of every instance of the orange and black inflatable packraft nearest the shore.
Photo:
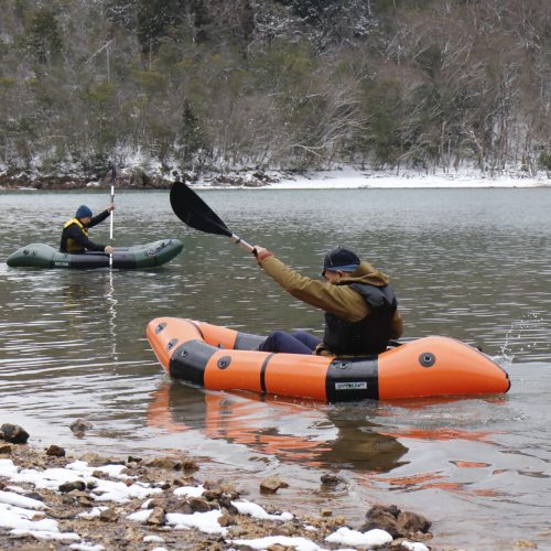
{"label": "orange and black inflatable packraft nearest the shore", "polygon": [[424,337],[378,356],[334,358],[255,350],[263,339],[204,322],[158,317],[148,339],[175,379],[214,389],[242,389],[323,401],[493,395],[509,390],[507,374],[471,346]]}

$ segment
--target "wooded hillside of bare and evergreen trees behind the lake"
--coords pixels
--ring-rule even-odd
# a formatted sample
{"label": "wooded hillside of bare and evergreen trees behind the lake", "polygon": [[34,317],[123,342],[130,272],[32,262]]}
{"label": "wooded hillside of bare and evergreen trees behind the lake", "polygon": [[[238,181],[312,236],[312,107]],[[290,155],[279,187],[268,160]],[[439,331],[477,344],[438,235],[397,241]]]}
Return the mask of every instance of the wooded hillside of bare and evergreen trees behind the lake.
{"label": "wooded hillside of bare and evergreen trees behind the lake", "polygon": [[0,0],[0,170],[551,171],[549,0]]}

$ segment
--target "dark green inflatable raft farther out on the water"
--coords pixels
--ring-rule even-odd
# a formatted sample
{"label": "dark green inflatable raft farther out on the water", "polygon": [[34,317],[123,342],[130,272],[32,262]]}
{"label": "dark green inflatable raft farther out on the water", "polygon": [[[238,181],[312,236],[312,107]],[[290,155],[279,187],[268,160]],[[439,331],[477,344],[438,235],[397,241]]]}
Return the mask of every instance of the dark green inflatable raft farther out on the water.
{"label": "dark green inflatable raft farther out on the water", "polygon": [[[177,239],[163,239],[148,245],[115,247],[112,267],[126,270],[153,268],[172,260],[184,247]],[[17,250],[6,261],[12,268],[108,268],[109,255],[86,252],[68,255],[43,244]]]}

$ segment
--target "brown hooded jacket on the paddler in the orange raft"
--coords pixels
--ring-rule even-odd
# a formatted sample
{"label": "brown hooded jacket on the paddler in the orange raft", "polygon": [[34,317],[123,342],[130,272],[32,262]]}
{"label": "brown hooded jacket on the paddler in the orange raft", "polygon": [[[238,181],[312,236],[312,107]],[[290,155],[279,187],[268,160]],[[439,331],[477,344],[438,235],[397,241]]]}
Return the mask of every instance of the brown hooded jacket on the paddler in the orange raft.
{"label": "brown hooded jacket on the paddler in the orange raft", "polygon": [[[270,253],[259,259],[258,263],[288,293],[306,304],[335,314],[348,322],[359,322],[369,314],[366,301],[347,284],[339,285],[306,278],[291,270]],[[356,271],[346,273],[339,282],[383,287],[388,284],[389,278],[369,262],[363,261]],[[402,335],[403,322],[398,310],[395,312],[390,329],[390,338],[398,338]]]}

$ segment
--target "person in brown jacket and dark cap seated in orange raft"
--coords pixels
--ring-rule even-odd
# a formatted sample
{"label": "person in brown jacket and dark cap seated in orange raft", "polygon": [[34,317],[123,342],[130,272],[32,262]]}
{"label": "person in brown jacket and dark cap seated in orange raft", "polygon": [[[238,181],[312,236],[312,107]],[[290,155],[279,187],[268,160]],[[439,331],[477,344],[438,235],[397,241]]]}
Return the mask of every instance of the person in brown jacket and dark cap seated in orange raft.
{"label": "person in brown jacket and dark cap seated in orange raft", "polygon": [[276,331],[259,346],[263,352],[375,355],[402,335],[402,316],[389,278],[350,250],[337,247],[324,257],[326,282],[288,268],[272,252],[255,247],[259,266],[294,298],[325,312],[323,339],[306,332]]}

